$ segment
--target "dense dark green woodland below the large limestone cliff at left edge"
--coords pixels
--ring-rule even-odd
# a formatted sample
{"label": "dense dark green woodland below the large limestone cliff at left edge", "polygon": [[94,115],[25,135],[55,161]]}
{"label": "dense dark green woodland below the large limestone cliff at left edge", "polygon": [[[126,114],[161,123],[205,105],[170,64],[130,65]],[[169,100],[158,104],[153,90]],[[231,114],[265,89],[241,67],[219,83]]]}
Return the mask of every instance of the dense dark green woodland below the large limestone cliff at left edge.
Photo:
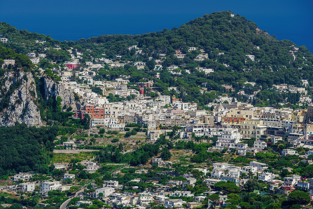
{"label": "dense dark green woodland below the large limestone cliff at left edge", "polygon": [[27,127],[16,124],[0,127],[0,175],[16,172],[38,171],[48,173],[55,137],[59,129],[52,126]]}

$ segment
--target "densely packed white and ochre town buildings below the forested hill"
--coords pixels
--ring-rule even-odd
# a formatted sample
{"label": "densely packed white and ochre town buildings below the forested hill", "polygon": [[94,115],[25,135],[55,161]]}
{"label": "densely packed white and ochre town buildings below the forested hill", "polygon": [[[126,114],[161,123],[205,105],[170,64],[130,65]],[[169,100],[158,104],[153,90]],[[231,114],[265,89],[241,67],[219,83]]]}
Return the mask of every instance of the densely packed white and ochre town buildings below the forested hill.
{"label": "densely packed white and ochre town buildings below the forested hill", "polygon": [[[212,69],[201,70],[205,73],[213,72]],[[121,76],[114,81],[94,81],[89,72],[88,70],[80,72],[79,77],[86,81],[84,84],[67,81],[70,80],[70,75],[64,74],[66,78],[62,85],[85,100],[84,107],[73,110],[73,117],[83,119],[85,114],[89,114],[92,118],[91,127],[103,126],[112,130],[122,130],[127,123],[147,125],[148,140],[155,142],[166,132],[164,127],[178,126],[181,128],[177,134],[181,138],[190,138],[192,134],[200,137],[218,137],[216,149],[235,148],[240,155],[255,154],[266,147],[266,142],[275,144],[285,137],[293,147],[302,144],[310,146],[311,142],[307,140],[313,139],[312,106],[307,110],[261,108],[237,102],[236,99],[233,101],[233,98],[227,96],[220,96],[213,103],[208,104],[212,111],[203,110],[198,108],[197,103],[182,102],[182,99],[174,94],[148,96],[145,90],[158,93],[153,87],[153,81],[136,83],[139,88],[136,90],[127,87],[130,82],[129,76]],[[89,85],[97,85],[103,95],[92,92]],[[231,85],[224,85],[224,87],[232,90]],[[168,88],[169,91],[172,89],[175,87]],[[179,92],[179,89],[175,90]],[[205,93],[206,88],[202,91]],[[110,94],[123,97],[125,100],[109,102],[107,97]],[[126,99],[129,96],[131,99]],[[301,98],[306,101],[310,99],[304,96]],[[251,138],[261,141],[259,142],[261,144],[248,147],[242,143]]]}

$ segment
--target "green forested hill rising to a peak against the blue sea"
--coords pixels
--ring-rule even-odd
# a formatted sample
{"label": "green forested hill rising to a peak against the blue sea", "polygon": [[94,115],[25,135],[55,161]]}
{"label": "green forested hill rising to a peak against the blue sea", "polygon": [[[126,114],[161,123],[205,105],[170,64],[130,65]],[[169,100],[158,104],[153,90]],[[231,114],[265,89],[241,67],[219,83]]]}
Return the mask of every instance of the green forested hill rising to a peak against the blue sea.
{"label": "green forested hill rising to a peak against the blue sea", "polygon": [[[103,56],[116,59],[116,55],[121,55],[121,61],[148,62],[149,56],[156,59],[158,53],[166,53],[164,67],[182,65],[181,68],[195,73],[198,84],[210,83],[208,90],[220,90],[220,84],[223,83],[233,84],[238,91],[244,87],[245,81],[256,82],[263,89],[267,89],[272,84],[288,83],[300,86],[301,79],[313,80],[313,56],[305,46],[295,49],[297,46],[290,40],[279,41],[275,35],[271,36],[259,29],[253,21],[239,14],[232,17],[231,14],[231,11],[205,14],[179,28],[174,27],[142,35],[101,35],[78,41],[53,40],[50,36],[17,30],[6,23],[0,24],[0,33],[9,39],[9,42],[3,45],[16,52],[26,53],[37,50],[46,53],[49,59],[59,60],[59,62],[69,58],[66,51],[69,47],[83,52],[81,62],[92,61],[92,58]],[[36,45],[35,40],[47,42],[44,45]],[[63,50],[52,49],[54,44],[59,45]],[[133,51],[127,49],[132,45],[141,47],[145,54],[134,56]],[[47,50],[49,47],[51,48]],[[208,53],[208,59],[194,61],[199,51],[188,52],[188,47],[203,49],[204,53]],[[184,60],[173,56],[177,49],[187,54]],[[246,55],[254,55],[255,62],[247,59]],[[196,72],[198,66],[213,68],[215,72],[210,73],[208,77],[203,75],[204,73]],[[149,68],[152,70],[151,66]],[[118,76],[118,73],[134,74],[133,69],[130,70],[128,66],[124,69],[106,70],[109,70],[109,74],[113,77]],[[138,75],[141,78],[148,78],[154,74],[151,71],[139,71]],[[188,80],[185,78],[184,80],[188,83]],[[190,80],[194,82],[195,79]],[[161,74],[161,81],[179,87],[178,83],[171,83],[167,75]]]}

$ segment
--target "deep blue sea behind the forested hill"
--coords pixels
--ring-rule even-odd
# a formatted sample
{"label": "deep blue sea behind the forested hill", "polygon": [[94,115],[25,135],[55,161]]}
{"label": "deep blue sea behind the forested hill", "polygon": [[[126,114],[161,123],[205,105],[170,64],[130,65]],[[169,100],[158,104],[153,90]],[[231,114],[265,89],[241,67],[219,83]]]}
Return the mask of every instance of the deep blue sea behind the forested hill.
{"label": "deep blue sea behind the forested hill", "polygon": [[30,3],[12,0],[14,10],[2,10],[0,22],[17,29],[78,40],[105,34],[142,34],[171,29],[214,11],[232,10],[254,21],[278,40],[288,39],[313,51],[310,10],[313,1],[83,1]]}

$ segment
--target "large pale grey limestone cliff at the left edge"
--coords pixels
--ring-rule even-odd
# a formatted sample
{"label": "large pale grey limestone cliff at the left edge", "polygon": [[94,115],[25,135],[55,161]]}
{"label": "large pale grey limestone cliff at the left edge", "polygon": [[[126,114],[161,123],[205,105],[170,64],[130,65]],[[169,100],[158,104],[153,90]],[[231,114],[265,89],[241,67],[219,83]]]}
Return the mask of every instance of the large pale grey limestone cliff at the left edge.
{"label": "large pale grey limestone cliff at the left edge", "polygon": [[[30,72],[6,72],[3,77],[2,94],[8,97],[8,105],[0,113],[0,126],[14,126],[16,122],[27,126],[41,126],[36,85]],[[13,92],[12,92],[13,91]]]}

